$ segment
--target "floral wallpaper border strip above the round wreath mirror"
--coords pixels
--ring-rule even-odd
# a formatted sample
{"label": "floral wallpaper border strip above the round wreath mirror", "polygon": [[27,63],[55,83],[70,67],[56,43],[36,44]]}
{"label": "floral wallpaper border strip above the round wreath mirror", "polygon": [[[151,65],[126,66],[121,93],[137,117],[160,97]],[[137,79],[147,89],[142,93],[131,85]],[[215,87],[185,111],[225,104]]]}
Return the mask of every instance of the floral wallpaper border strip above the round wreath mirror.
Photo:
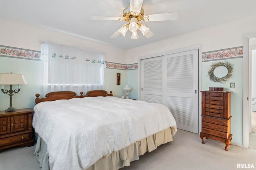
{"label": "floral wallpaper border strip above the round wreath mirror", "polygon": [[243,46],[202,53],[202,62],[243,58]]}

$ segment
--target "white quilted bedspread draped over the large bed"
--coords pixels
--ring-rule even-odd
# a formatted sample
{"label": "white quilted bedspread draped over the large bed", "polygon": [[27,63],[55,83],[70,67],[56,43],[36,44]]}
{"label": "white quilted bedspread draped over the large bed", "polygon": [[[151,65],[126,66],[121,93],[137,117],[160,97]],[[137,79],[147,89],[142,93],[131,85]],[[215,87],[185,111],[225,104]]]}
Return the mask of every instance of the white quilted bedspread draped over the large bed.
{"label": "white quilted bedspread draped over the large bed", "polygon": [[54,170],[87,169],[102,156],[176,127],[164,105],[115,97],[42,102],[34,111],[33,127],[48,146]]}

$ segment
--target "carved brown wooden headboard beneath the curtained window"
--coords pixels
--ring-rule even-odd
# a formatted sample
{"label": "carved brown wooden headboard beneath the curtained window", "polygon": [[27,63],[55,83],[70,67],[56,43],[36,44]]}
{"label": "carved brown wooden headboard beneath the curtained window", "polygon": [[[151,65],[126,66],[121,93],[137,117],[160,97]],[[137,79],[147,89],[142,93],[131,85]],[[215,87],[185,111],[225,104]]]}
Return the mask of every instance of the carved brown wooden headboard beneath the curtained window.
{"label": "carved brown wooden headboard beneath the curtained window", "polygon": [[39,98],[40,94],[36,94],[35,102],[36,104],[40,102],[47,102],[47,101],[55,101],[55,100],[63,100],[63,99],[73,99],[73,98],[85,98],[85,97],[98,97],[98,96],[113,96],[112,91],[110,91],[110,94],[106,92],[105,90],[92,90],[86,93],[86,95],[83,96],[83,92],[80,92],[80,96],[77,96],[75,92],[69,92],[69,91],[60,91],[60,92],[50,92],[45,95],[45,98]]}

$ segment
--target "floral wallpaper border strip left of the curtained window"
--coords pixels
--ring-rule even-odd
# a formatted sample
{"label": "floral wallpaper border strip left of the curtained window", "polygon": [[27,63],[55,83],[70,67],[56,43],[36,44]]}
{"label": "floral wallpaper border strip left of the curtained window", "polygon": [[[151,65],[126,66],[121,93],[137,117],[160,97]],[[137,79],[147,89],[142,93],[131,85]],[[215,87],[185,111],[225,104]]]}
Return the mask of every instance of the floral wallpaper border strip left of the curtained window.
{"label": "floral wallpaper border strip left of the curtained window", "polygon": [[0,56],[41,61],[41,52],[0,45]]}

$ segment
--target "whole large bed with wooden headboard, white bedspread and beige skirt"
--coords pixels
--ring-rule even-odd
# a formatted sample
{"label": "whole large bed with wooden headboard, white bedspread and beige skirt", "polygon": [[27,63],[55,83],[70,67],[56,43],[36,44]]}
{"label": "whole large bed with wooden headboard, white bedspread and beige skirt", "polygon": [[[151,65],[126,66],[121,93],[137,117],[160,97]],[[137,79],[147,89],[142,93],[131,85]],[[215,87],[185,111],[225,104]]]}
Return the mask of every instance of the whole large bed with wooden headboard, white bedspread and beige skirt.
{"label": "whole large bed with wooden headboard, white bedspread and beige skirt", "polygon": [[176,121],[161,104],[104,90],[36,94],[35,155],[42,170],[117,170],[172,141]]}

